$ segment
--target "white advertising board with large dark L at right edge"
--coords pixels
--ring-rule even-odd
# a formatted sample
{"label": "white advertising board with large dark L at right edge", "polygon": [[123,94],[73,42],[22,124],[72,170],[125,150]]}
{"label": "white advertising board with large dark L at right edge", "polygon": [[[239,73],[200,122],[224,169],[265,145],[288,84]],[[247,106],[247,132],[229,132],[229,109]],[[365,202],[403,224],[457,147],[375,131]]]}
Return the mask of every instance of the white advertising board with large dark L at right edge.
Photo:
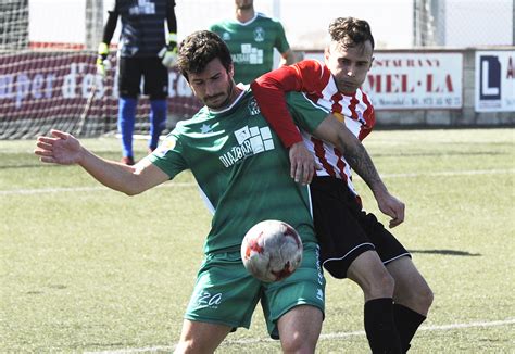
{"label": "white advertising board with large dark L at right edge", "polygon": [[515,112],[515,51],[476,52],[476,112]]}

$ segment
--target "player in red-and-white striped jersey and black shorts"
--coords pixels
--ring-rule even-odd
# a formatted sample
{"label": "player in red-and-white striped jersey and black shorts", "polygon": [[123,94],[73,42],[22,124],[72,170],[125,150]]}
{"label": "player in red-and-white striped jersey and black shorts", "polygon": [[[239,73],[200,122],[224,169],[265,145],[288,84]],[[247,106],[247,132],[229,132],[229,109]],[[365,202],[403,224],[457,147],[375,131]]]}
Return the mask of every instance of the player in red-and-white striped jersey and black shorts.
{"label": "player in red-and-white striped jersey and black shorts", "polygon": [[[329,34],[325,63],[305,60],[284,66],[251,86],[263,114],[290,148],[292,177],[311,180],[315,170],[311,156],[322,167],[313,177],[311,192],[324,267],[363,289],[365,331],[373,352],[404,353],[427,316],[432,292],[402,244],[373,214],[362,211],[351,161],[335,146],[306,131],[300,134],[284,102],[285,92],[303,91],[360,140],[370,132],[374,106],[361,89],[374,60],[370,27],[363,20],[340,17],[330,24]],[[393,217],[390,227],[401,224],[404,205],[402,213],[392,215],[378,191],[372,191],[381,212]]]}

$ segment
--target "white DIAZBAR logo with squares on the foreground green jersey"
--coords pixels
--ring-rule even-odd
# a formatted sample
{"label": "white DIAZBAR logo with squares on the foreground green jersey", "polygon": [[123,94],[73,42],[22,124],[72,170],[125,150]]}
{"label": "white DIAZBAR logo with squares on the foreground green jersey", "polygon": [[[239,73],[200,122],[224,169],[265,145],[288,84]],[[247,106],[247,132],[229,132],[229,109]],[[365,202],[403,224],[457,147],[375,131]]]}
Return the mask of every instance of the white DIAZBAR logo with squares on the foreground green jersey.
{"label": "white DIAZBAR logo with squares on the foreground green jersey", "polygon": [[229,151],[219,156],[219,161],[225,167],[230,167],[249,156],[275,148],[268,127],[244,126],[235,131],[235,137],[238,141],[238,146],[233,147]]}

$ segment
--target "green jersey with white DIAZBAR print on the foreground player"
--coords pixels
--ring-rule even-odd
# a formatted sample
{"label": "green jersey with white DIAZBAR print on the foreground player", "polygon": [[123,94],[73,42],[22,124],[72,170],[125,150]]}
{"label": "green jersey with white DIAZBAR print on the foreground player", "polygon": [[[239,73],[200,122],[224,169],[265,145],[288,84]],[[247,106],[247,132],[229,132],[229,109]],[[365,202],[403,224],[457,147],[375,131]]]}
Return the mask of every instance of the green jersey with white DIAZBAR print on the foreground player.
{"label": "green jersey with white DIAZBAR print on the foreground player", "polygon": [[[327,116],[302,93],[289,93],[287,102],[306,131]],[[246,232],[265,219],[286,222],[303,242],[316,242],[309,189],[290,177],[288,152],[249,89],[223,111],[204,106],[179,122],[150,161],[171,179],[191,169],[214,212],[205,253],[238,251]]]}

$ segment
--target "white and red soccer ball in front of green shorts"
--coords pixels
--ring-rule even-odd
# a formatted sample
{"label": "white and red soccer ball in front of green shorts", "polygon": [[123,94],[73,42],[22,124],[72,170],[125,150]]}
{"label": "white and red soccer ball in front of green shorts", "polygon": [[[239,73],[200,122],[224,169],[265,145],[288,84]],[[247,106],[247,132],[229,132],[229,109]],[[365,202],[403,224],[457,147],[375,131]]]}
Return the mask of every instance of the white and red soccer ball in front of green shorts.
{"label": "white and red soccer ball in front of green shorts", "polygon": [[278,220],[258,223],[247,231],[241,243],[243,265],[265,282],[285,279],[302,262],[302,241],[296,229]]}

